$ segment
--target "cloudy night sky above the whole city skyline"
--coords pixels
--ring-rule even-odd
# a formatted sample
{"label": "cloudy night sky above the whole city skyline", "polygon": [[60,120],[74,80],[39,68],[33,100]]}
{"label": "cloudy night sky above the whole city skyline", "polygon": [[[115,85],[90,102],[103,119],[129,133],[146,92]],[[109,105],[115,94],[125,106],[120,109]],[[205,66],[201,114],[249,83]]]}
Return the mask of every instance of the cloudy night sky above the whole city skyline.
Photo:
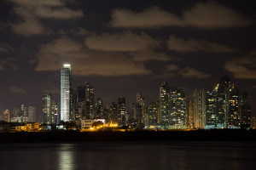
{"label": "cloudy night sky above the whole city skyline", "polygon": [[73,88],[90,82],[107,105],[141,92],[158,99],[161,82],[212,88],[228,75],[256,112],[256,11],[253,1],[2,0],[0,111],[60,101],[60,69]]}

